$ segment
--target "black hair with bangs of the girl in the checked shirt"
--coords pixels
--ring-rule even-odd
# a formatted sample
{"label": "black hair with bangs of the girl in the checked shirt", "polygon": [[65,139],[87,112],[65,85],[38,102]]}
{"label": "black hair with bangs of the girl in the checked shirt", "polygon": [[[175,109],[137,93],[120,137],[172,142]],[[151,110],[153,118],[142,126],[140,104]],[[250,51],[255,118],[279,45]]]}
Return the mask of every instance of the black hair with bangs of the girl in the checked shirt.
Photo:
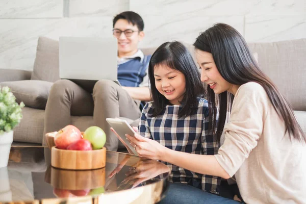
{"label": "black hair with bangs of the girl in the checked shirt", "polygon": [[189,50],[181,42],[173,41],[165,42],[159,46],[149,62],[148,76],[154,107],[152,117],[161,114],[166,105],[169,105],[168,99],[155,86],[154,68],[160,65],[165,65],[184,74],[186,91],[181,101],[182,109],[179,112],[179,117],[191,115],[193,109],[198,106],[197,97],[202,96],[205,89]]}

